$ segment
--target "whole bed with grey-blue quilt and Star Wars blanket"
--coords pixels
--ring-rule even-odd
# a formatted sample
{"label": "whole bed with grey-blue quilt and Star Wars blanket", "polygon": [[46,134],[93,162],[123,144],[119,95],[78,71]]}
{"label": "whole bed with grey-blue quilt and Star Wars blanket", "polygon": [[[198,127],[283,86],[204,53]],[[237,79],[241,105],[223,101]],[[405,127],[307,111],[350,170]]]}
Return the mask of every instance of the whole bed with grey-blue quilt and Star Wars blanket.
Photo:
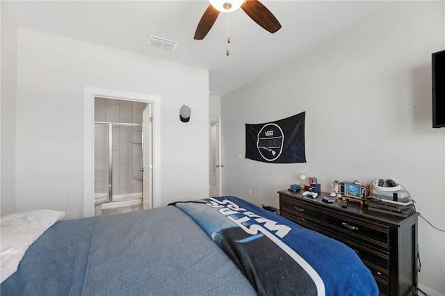
{"label": "whole bed with grey-blue quilt and Star Wars blanket", "polygon": [[378,295],[352,249],[237,197],[58,214],[17,270],[2,270],[1,295]]}

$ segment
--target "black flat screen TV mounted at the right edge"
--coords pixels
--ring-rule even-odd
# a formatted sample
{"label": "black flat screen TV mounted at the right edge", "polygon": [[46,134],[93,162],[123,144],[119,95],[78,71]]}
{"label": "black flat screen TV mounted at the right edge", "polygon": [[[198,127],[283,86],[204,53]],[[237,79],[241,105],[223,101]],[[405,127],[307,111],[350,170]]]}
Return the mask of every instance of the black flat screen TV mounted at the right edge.
{"label": "black flat screen TV mounted at the right edge", "polygon": [[445,127],[445,50],[432,56],[432,127]]}

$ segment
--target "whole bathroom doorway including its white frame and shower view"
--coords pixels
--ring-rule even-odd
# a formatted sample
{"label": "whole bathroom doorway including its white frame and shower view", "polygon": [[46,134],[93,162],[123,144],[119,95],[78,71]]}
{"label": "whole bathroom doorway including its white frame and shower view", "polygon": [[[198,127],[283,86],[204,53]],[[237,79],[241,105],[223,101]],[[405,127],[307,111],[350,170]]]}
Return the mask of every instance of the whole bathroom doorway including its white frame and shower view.
{"label": "whole bathroom doorway including its white frame and shower view", "polygon": [[83,217],[104,191],[101,208],[161,205],[160,114],[159,96],[83,88]]}

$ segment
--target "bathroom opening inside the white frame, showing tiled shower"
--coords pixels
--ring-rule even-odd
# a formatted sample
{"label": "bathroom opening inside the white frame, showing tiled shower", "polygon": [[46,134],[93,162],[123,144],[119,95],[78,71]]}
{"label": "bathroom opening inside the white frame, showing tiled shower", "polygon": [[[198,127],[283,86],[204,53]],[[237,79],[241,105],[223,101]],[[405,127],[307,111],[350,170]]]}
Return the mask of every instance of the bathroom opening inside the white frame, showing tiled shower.
{"label": "bathroom opening inside the white frame, showing tiled shower", "polygon": [[95,196],[108,194],[104,203],[95,199],[102,211],[152,207],[152,180],[147,172],[152,159],[151,107],[145,102],[95,97]]}

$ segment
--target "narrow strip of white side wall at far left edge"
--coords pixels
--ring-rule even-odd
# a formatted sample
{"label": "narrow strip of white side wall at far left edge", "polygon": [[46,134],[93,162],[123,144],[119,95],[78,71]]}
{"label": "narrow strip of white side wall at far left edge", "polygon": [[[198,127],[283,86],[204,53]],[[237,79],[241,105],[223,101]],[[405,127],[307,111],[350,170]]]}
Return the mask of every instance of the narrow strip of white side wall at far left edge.
{"label": "narrow strip of white side wall at far left edge", "polygon": [[[0,3],[1,5],[1,3]],[[15,81],[17,26],[1,13],[0,215],[15,211]]]}

